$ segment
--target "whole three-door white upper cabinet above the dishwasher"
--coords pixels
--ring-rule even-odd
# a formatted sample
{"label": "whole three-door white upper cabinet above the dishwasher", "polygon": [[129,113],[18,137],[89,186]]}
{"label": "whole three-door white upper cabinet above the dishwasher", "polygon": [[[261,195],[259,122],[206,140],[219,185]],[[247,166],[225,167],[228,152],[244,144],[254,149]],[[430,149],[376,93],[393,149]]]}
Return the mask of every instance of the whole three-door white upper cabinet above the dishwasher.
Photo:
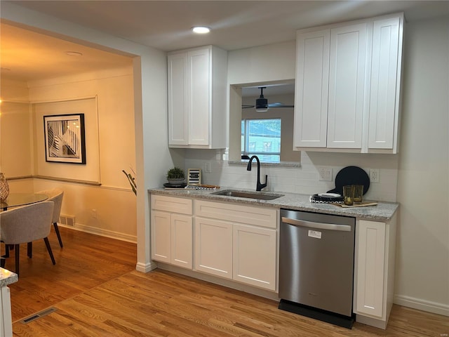
{"label": "whole three-door white upper cabinet above the dishwasher", "polygon": [[297,32],[295,150],[396,153],[403,15]]}

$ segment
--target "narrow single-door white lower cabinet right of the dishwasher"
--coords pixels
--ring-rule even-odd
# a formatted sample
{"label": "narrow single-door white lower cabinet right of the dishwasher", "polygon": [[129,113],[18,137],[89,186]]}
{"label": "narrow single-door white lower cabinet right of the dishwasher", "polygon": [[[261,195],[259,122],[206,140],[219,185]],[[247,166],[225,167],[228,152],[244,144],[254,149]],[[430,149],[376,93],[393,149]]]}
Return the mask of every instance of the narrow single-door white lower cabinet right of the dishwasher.
{"label": "narrow single-door white lower cabinet right of the dishwasher", "polygon": [[356,224],[354,313],[357,322],[385,329],[393,304],[396,216]]}

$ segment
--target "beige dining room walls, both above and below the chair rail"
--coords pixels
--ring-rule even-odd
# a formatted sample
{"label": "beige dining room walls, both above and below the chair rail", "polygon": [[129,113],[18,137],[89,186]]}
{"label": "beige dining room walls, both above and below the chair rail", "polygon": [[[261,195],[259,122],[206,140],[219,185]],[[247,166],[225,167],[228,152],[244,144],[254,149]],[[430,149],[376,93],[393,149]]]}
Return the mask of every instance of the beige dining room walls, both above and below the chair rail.
{"label": "beige dining room walls, both above and below the chair rail", "polygon": [[[132,66],[28,86],[32,103],[7,102],[7,112],[2,106],[1,162],[6,176],[98,181],[101,186],[24,179],[10,180],[11,192],[60,187],[65,191],[61,213],[74,216],[75,228],[136,242],[135,195],[121,171],[135,170]],[[7,89],[2,91],[7,93]],[[76,112],[86,114],[86,165],[46,162],[43,114]]]}

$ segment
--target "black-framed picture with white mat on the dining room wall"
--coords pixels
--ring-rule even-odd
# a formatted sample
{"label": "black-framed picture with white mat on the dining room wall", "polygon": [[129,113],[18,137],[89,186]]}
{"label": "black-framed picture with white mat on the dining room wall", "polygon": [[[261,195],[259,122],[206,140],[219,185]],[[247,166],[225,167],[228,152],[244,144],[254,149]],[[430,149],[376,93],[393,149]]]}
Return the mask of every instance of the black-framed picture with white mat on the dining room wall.
{"label": "black-framed picture with white mat on the dining room wall", "polygon": [[46,161],[86,164],[84,114],[43,116]]}

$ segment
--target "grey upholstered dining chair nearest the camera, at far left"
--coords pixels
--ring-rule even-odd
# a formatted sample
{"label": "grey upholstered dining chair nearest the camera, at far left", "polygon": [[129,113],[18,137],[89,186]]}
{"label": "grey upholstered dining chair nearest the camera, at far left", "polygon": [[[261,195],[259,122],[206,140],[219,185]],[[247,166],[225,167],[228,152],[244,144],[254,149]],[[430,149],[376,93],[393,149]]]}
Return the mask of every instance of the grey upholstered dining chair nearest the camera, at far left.
{"label": "grey upholstered dining chair nearest the camera, at far left", "polygon": [[51,262],[53,265],[56,264],[48,241],[54,205],[53,201],[41,201],[0,212],[0,239],[4,244],[14,245],[15,273],[17,275],[19,275],[20,244],[28,244],[28,256],[31,258],[30,243],[43,239]]}

